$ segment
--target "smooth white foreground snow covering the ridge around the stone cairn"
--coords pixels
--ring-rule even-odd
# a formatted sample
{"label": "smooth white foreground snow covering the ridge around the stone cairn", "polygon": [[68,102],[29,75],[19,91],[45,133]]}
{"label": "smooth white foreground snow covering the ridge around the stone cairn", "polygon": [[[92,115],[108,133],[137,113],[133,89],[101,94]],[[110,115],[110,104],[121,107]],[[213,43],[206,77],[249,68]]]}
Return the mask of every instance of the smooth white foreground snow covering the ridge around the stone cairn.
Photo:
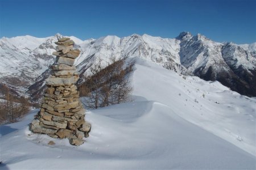
{"label": "smooth white foreground snow covering the ridge around the stone cairn", "polygon": [[[92,130],[84,145],[75,147],[67,139],[31,134],[28,124],[38,112],[35,109],[20,122],[0,126],[0,167],[256,168],[255,99],[218,82],[180,76],[155,63],[133,59],[133,101],[86,111]],[[47,145],[51,140],[56,145]]]}

